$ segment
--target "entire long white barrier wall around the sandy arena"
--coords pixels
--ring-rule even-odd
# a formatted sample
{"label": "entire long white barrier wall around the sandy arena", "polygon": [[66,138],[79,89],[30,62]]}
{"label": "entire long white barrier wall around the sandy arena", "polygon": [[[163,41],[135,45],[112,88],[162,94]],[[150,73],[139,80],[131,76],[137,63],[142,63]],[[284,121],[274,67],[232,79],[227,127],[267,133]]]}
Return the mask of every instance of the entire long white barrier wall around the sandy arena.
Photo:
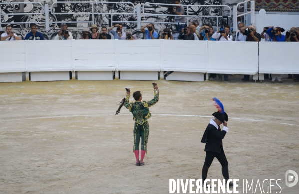
{"label": "entire long white barrier wall around the sandy arena", "polygon": [[255,75],[258,61],[261,74],[299,74],[298,45],[187,40],[0,41],[0,82],[21,81],[24,71],[30,72],[32,81],[68,80],[73,70],[82,75],[80,79],[113,79],[113,71],[118,70],[120,79],[157,80],[158,71],[168,71],[171,74],[166,79],[202,81],[204,73]]}

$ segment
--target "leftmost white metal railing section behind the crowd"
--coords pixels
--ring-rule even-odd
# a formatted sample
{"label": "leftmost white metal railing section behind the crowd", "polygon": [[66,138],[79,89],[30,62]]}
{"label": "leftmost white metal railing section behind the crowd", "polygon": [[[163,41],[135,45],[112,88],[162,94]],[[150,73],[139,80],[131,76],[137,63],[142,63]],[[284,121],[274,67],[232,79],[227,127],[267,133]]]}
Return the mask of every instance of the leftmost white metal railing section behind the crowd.
{"label": "leftmost white metal railing section behind the crowd", "polygon": [[[44,7],[42,6],[42,4],[40,2],[1,2],[0,3],[0,7],[2,5],[12,5],[12,7],[14,7],[15,5],[19,5],[19,4],[38,4],[40,5],[40,11],[41,12],[33,12],[33,13],[2,13],[2,10],[0,10],[0,30],[2,29],[2,24],[10,24],[11,22],[2,22],[2,15],[44,15]],[[13,24],[30,24],[30,23],[36,23],[36,22],[13,22]],[[38,23],[46,23],[44,22],[38,22]]]}

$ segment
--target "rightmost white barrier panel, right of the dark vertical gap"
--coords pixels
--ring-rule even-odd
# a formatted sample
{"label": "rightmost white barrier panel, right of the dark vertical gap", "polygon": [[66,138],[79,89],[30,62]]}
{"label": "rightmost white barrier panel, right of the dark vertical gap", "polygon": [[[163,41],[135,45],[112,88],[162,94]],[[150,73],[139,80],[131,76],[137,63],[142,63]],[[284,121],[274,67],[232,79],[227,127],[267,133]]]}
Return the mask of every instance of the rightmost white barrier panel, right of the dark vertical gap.
{"label": "rightmost white barrier panel, right of the dark vertical gap", "polygon": [[299,74],[298,42],[260,42],[259,73]]}

